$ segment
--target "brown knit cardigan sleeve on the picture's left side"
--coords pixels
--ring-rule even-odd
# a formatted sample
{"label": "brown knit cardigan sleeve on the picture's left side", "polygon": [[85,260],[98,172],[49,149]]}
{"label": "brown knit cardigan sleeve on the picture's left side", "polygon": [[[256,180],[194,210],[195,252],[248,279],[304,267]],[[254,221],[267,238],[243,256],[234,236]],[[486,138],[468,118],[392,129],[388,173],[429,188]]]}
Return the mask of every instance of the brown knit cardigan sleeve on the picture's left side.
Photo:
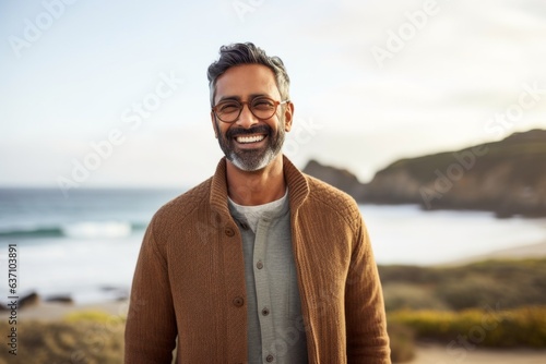
{"label": "brown knit cardigan sleeve on the picture's left side", "polygon": [[176,319],[167,270],[150,223],[134,271],[124,332],[126,364],[170,364]]}

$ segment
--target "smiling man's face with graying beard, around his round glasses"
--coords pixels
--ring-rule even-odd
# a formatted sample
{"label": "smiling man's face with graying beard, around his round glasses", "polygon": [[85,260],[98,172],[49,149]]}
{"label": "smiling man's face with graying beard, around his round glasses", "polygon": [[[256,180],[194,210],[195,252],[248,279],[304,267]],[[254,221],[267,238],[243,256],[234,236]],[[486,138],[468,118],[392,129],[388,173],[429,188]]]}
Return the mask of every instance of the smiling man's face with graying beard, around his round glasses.
{"label": "smiling man's face with graying beard, around his round glasses", "polygon": [[[228,69],[216,81],[214,105],[235,99],[251,101],[257,97],[281,100],[273,71],[261,64],[241,64]],[[211,113],[218,144],[226,158],[245,171],[265,168],[278,156],[285,132],[290,130],[292,104],[278,106],[269,119],[258,119],[245,105],[239,119],[225,123]]]}

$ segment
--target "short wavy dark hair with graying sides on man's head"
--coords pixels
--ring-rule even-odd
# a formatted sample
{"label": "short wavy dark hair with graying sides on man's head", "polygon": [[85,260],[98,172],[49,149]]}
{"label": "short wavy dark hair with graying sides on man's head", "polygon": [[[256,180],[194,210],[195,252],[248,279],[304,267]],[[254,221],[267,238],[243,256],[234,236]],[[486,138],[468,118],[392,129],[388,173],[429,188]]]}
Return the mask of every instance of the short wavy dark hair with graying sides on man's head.
{"label": "short wavy dark hair with graying sides on man's head", "polygon": [[290,78],[283,61],[276,57],[269,57],[265,51],[252,43],[236,43],[219,48],[219,59],[209,66],[209,89],[211,92],[211,107],[216,96],[216,80],[229,68],[238,64],[263,64],[275,75],[275,83],[282,100],[289,99]]}

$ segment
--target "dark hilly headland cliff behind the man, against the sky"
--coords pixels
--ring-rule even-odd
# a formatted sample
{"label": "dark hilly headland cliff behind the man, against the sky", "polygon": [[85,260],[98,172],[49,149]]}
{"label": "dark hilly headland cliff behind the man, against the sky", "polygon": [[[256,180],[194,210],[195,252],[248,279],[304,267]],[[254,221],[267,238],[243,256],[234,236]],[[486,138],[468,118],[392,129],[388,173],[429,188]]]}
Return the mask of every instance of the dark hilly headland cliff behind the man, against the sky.
{"label": "dark hilly headland cliff behind the man, against the sky", "polygon": [[349,172],[319,168],[307,173],[349,193],[359,203],[418,204],[425,209],[474,209],[546,216],[546,131],[514,133],[503,141],[401,159],[363,184]]}

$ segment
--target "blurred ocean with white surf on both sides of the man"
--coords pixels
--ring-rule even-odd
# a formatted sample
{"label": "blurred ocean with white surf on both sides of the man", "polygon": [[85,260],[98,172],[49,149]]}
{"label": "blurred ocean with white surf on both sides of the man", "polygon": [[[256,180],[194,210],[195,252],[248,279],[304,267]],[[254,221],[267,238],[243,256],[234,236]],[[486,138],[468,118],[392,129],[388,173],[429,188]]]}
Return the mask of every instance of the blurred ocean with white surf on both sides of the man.
{"label": "blurred ocean with white surf on both sides of the man", "polygon": [[[17,248],[17,294],[97,303],[127,296],[144,230],[183,190],[0,189],[0,271]],[[379,264],[434,265],[546,242],[546,219],[360,206]],[[0,302],[9,294],[0,282]]]}

